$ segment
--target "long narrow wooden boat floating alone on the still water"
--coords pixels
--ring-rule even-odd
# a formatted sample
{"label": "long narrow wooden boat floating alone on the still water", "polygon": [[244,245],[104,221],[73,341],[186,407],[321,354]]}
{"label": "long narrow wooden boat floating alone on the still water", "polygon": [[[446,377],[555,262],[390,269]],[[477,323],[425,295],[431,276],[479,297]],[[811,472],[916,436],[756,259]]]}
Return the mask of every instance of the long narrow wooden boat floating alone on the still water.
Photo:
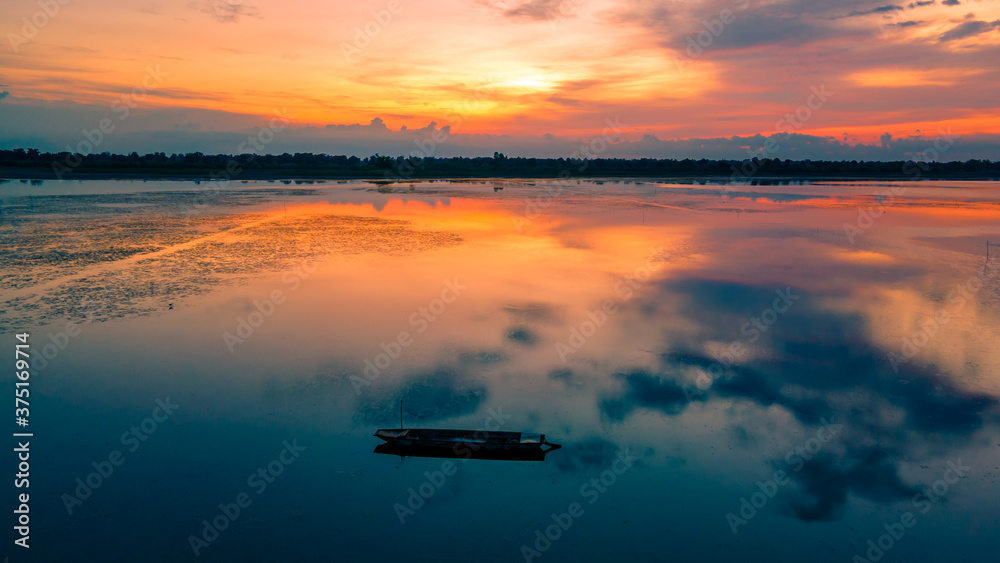
{"label": "long narrow wooden boat floating alone on the still water", "polygon": [[385,441],[375,448],[375,453],[403,457],[544,461],[545,454],[562,447],[547,442],[545,434],[528,432],[383,428],[375,432],[375,437]]}

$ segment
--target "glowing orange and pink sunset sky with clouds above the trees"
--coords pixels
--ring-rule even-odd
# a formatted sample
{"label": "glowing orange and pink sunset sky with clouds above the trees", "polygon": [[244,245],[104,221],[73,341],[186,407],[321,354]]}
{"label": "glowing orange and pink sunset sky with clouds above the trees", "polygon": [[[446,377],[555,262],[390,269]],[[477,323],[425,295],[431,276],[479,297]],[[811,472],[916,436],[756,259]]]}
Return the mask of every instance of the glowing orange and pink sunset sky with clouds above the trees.
{"label": "glowing orange and pink sunset sky with clouds above the trees", "polygon": [[284,112],[266,152],[405,154],[433,122],[437,154],[556,156],[618,123],[608,154],[950,131],[1000,156],[992,1],[51,2],[2,8],[0,147],[75,147],[108,117],[98,150],[230,153]]}

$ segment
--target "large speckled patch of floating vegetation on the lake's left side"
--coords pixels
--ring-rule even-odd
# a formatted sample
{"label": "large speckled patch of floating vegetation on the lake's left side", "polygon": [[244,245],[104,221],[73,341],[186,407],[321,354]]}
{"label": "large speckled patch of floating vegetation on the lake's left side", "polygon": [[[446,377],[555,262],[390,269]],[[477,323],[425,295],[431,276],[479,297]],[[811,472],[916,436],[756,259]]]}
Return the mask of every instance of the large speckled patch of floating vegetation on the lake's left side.
{"label": "large speckled patch of floating vegetation on the lake's left side", "polygon": [[461,242],[401,220],[226,213],[312,193],[225,190],[205,206],[197,201],[205,194],[191,192],[8,200],[0,215],[0,331],[148,315],[329,255],[403,255]]}

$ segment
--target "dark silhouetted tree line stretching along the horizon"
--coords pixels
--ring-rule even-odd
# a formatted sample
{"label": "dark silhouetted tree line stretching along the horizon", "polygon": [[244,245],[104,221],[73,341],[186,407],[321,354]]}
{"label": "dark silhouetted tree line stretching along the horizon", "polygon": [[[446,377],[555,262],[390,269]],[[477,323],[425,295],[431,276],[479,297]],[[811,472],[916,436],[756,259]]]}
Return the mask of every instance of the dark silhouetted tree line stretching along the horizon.
{"label": "dark silhouetted tree line stretching along the horizon", "polygon": [[446,177],[597,177],[597,176],[724,176],[754,178],[1000,178],[1000,162],[693,160],[685,158],[524,158],[494,153],[493,157],[421,159],[375,154],[356,156],[295,154],[215,154],[200,152],[140,155],[108,152],[80,155],[43,153],[35,149],[0,150],[0,175],[121,174],[211,177],[228,174],[245,178],[409,178]]}

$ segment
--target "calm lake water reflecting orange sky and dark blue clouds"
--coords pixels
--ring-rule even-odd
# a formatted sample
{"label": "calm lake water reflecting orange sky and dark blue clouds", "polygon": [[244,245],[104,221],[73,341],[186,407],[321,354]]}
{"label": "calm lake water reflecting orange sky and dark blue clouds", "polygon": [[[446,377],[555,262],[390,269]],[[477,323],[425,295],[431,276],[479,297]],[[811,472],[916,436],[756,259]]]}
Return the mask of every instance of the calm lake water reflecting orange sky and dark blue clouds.
{"label": "calm lake water reflecting orange sky and dark blue clouds", "polygon": [[[27,332],[33,361],[11,561],[996,552],[996,183],[13,181],[0,203],[0,357]],[[563,448],[376,455],[400,400],[406,426]]]}

